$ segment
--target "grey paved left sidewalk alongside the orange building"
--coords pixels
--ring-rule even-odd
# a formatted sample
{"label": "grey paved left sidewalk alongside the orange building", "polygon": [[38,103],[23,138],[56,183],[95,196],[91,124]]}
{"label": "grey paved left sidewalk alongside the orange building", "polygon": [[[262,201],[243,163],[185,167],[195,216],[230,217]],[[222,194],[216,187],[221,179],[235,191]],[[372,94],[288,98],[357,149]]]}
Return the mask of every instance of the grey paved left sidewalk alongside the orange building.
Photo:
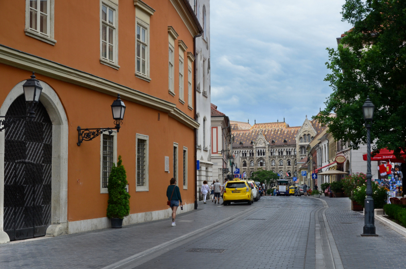
{"label": "grey paved left sidewalk alongside the orange building", "polygon": [[124,226],[122,229],[70,234],[0,245],[0,268],[100,268],[186,233],[206,227],[250,206],[199,204],[176,218]]}

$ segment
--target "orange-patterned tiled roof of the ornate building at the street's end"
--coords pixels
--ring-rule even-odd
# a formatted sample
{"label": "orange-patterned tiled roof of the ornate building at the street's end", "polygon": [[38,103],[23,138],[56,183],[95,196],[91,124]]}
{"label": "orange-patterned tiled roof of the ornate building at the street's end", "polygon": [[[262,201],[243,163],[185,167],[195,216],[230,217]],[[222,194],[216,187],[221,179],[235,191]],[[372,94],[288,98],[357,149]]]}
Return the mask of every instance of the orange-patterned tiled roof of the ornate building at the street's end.
{"label": "orange-patterned tiled roof of the ornate building at the street's end", "polygon": [[[271,145],[295,145],[295,136],[299,129],[300,126],[288,127],[285,122],[254,124],[249,130],[232,131],[232,134],[234,135],[234,143],[232,144],[232,147],[251,146],[251,141],[255,142],[260,132],[262,132],[266,141]],[[285,140],[286,143],[284,143]],[[243,142],[243,145],[240,145],[240,142]]]}

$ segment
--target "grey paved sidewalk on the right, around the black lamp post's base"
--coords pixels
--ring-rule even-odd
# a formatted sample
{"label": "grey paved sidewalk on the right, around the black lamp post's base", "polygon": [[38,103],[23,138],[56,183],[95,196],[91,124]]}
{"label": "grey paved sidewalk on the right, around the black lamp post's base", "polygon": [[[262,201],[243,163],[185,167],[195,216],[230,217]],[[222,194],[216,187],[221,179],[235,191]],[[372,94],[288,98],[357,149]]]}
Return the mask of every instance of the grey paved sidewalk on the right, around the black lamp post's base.
{"label": "grey paved sidewalk on the right, around the black lamp post's base", "polygon": [[351,210],[349,198],[320,197],[344,268],[406,268],[406,238],[375,221],[379,237],[361,237],[364,216]]}

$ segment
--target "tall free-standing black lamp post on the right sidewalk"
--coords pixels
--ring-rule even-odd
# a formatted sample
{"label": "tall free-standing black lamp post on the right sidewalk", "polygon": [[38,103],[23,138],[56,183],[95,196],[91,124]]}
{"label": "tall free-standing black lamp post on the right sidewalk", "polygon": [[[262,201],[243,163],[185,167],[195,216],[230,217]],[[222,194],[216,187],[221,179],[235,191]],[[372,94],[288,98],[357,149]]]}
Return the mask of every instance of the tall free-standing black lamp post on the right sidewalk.
{"label": "tall free-standing black lamp post on the right sidewalk", "polygon": [[371,123],[374,118],[375,106],[369,99],[366,98],[362,106],[362,113],[364,114],[365,127],[366,127],[366,198],[365,198],[365,218],[364,218],[364,232],[361,236],[378,236],[375,233],[375,216],[374,216],[374,198],[372,197],[372,183],[371,183]]}

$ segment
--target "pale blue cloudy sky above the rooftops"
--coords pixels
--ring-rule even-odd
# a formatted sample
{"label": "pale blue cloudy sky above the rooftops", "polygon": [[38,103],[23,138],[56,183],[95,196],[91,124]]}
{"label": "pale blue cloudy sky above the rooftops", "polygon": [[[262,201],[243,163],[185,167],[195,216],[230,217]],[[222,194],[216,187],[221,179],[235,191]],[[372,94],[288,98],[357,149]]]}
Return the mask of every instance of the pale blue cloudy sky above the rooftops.
{"label": "pale blue cloudy sky above the rooftops", "polygon": [[211,99],[230,120],[300,126],[331,93],[345,0],[211,0]]}

